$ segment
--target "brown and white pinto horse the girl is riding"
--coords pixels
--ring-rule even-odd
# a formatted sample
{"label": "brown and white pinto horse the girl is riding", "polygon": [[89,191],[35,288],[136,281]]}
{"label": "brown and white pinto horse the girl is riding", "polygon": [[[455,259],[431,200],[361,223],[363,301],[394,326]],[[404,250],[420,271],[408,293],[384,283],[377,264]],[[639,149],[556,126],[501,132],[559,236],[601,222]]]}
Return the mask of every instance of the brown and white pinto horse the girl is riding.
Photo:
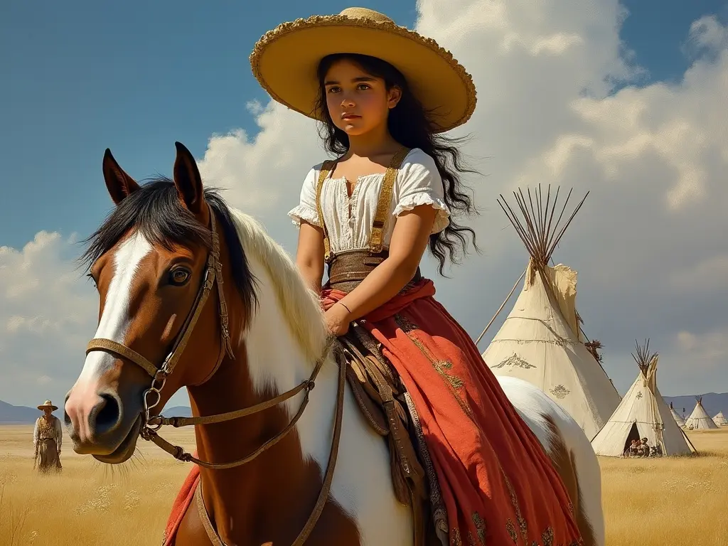
{"label": "brown and white pinto horse the girl is riding", "polygon": [[[175,146],[173,178],[143,185],[103,157],[115,207],[82,256],[100,310],[66,395],[74,451],[121,464],[141,437],[200,464],[178,545],[411,545],[387,443],[342,380],[317,294]],[[499,381],[566,484],[584,544],[604,545],[589,441],[544,393]],[[182,387],[193,417],[160,416]],[[197,456],[166,443],[162,424],[201,425]]]}

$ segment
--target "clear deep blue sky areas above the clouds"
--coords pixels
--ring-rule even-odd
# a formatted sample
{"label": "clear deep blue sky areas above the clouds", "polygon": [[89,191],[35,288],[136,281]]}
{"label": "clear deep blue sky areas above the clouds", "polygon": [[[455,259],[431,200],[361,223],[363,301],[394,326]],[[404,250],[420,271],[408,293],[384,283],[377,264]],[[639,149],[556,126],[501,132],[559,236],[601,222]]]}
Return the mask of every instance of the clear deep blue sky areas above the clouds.
{"label": "clear deep blue sky areas above the clouds", "polygon": [[[7,2],[0,17],[0,246],[40,230],[98,226],[110,201],[104,149],[133,175],[165,171],[173,142],[202,157],[207,139],[257,127],[245,108],[266,102],[250,74],[256,39],[282,18],[339,12],[333,0],[264,2]],[[412,26],[414,2],[362,1]],[[647,73],[677,81],[681,45],[701,15],[728,20],[719,0],[629,0],[622,40]],[[285,15],[283,15],[285,14]],[[285,218],[282,222],[287,221]]]}

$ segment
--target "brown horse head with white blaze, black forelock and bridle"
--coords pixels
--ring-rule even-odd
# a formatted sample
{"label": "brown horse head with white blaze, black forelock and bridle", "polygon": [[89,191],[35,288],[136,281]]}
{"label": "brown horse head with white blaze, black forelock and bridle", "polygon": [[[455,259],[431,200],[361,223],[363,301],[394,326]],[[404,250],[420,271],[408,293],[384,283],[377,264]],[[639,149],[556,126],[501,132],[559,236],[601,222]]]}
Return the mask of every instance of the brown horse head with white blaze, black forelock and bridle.
{"label": "brown horse head with white blaze, black forelock and bridle", "polygon": [[232,357],[229,331],[241,331],[255,299],[242,247],[227,245],[238,242],[229,210],[203,189],[189,150],[175,146],[173,179],[143,186],[111,151],[103,157],[116,206],[83,256],[99,294],[98,330],[65,405],[74,451],[101,462],[127,460],[174,392]]}

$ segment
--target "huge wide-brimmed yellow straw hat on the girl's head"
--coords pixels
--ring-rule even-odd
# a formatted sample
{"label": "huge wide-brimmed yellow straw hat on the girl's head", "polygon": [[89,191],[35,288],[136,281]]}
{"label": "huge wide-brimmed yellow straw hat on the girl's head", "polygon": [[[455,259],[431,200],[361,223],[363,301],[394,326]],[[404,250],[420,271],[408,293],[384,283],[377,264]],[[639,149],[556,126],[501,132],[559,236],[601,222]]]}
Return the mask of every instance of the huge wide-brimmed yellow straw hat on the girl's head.
{"label": "huge wide-brimmed yellow straw hat on the girl's head", "polygon": [[316,70],[333,53],[370,55],[395,66],[422,106],[433,111],[437,132],[464,124],[475,110],[472,77],[451,52],[373,9],[349,7],[339,15],[282,23],[258,40],[250,66],[274,100],[317,119]]}

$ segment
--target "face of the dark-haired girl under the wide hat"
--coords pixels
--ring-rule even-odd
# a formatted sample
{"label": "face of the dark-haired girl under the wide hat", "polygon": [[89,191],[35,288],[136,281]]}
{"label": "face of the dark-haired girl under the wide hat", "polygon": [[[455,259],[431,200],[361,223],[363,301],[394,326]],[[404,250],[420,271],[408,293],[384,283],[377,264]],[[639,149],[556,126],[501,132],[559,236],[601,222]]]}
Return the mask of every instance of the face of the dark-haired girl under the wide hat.
{"label": "face of the dark-haired girl under the wide hat", "polygon": [[333,63],[324,87],[333,124],[349,136],[386,127],[389,110],[397,106],[402,95],[398,87],[387,90],[384,79],[367,74],[350,60]]}

